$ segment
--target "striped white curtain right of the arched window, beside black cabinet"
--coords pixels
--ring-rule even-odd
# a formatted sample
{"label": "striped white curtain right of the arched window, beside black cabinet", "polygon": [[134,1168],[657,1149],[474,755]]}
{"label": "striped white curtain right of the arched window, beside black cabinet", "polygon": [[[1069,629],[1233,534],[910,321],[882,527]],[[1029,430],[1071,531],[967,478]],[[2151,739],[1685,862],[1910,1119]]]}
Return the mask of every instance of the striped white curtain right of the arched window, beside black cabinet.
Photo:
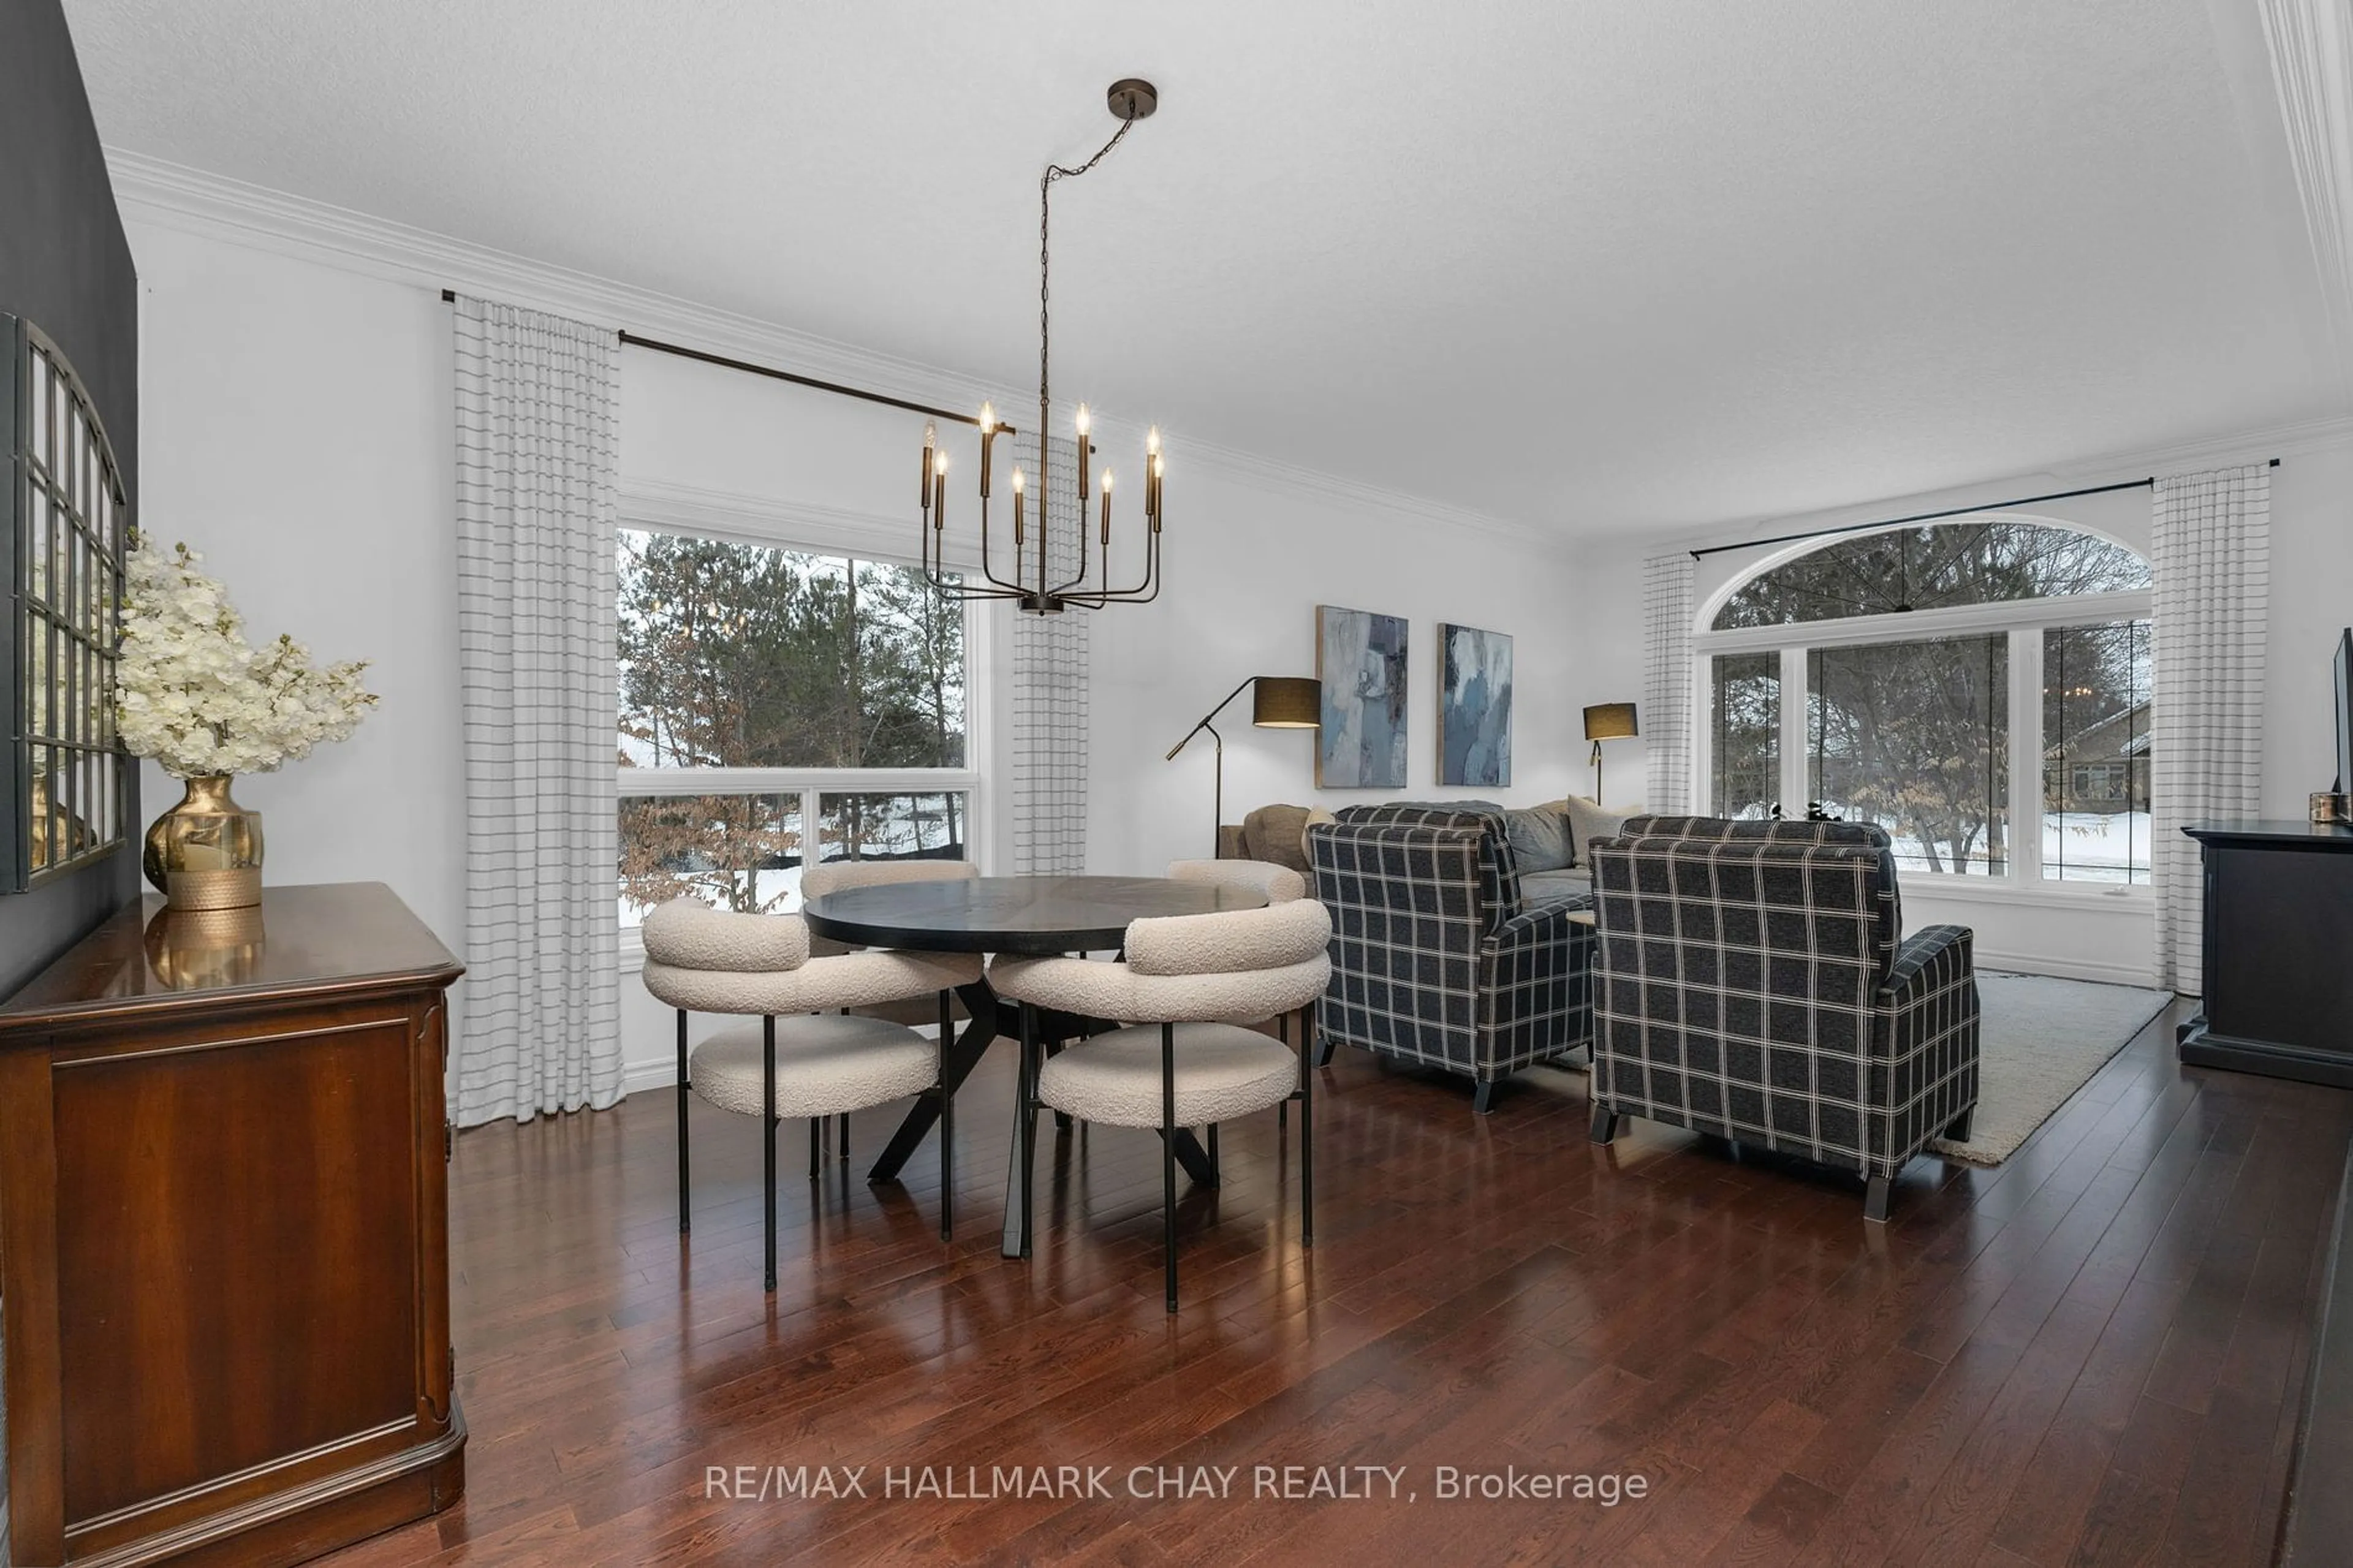
{"label": "striped white curtain right of the arched window, beside black cabinet", "polygon": [[2191,822],[2264,805],[2271,466],[2158,480],[2155,697],[2148,720],[2158,982],[2205,991],[2205,878]]}

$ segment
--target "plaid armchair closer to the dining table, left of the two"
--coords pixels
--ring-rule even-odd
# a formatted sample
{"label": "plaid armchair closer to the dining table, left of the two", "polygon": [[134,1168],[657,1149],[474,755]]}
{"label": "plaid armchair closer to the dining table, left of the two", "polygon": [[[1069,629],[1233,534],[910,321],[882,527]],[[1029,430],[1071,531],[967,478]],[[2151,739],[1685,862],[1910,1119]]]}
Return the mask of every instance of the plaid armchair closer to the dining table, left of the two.
{"label": "plaid armchair closer to the dining table, left of the two", "polygon": [[1360,805],[1308,829],[1315,897],[1332,911],[1332,1045],[1494,1085],[1593,1038],[1591,897],[1520,906],[1499,812]]}

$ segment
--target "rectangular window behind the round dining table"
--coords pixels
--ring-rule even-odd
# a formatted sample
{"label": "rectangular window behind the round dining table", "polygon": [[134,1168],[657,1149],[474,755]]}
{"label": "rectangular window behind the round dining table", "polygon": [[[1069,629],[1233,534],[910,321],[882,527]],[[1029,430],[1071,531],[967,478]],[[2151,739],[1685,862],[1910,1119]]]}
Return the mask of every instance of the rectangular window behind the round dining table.
{"label": "rectangular window behind the round dining table", "polygon": [[791,911],[812,859],[967,859],[967,643],[915,567],[624,527],[621,923]]}

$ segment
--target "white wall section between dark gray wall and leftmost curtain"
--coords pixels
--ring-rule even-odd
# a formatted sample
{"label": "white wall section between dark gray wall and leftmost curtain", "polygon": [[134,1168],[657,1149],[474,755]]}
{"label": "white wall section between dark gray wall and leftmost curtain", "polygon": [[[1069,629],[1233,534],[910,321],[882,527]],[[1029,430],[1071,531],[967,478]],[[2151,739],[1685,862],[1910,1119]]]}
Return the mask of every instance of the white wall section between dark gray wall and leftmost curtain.
{"label": "white wall section between dark gray wall and leftmost curtain", "polygon": [[[271,883],[381,881],[466,935],[449,308],[431,292],[129,224],[146,306],[139,525],[228,584],[256,643],[369,659],[341,744],[238,779]],[[151,815],[179,786],[144,765]]]}

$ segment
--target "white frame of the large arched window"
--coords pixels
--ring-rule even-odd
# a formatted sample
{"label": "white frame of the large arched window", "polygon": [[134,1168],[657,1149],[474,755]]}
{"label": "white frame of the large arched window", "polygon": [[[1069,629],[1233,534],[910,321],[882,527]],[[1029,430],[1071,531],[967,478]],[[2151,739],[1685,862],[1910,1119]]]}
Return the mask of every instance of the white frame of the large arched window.
{"label": "white frame of the large arched window", "polygon": [[[2057,518],[2026,516],[1972,516],[1953,523],[2031,523],[2035,527],[2061,527],[2087,534],[2106,544],[2132,551],[2146,560],[2146,551],[2113,539],[2099,530]],[[1911,527],[1911,525],[1904,525]],[[1889,530],[1892,532],[1892,530]],[[1965,636],[2007,636],[2009,640],[2009,857],[2000,876],[1965,871],[1904,871],[1906,888],[1932,890],[1937,897],[1962,899],[2031,899],[2031,902],[2099,902],[2099,904],[2148,904],[2155,899],[2151,883],[2068,883],[2042,876],[2042,633],[2054,626],[2104,626],[2113,622],[2146,622],[2155,614],[2155,589],[2120,589],[2108,593],[2068,593],[2057,598],[2005,598],[1984,605],[1941,605],[1937,610],[1899,610],[1882,614],[1854,614],[1824,622],[1791,622],[1781,626],[1734,626],[1713,629],[1713,619],[1725,603],[1744,586],[1767,572],[1800,560],[1824,544],[1807,544],[1779,551],[1732,577],[1706,603],[1697,607],[1692,629],[1692,695],[1694,713],[1713,713],[1715,683],[1713,659],[1718,655],[1779,655],[1781,659],[1781,756],[1779,796],[1788,800],[1809,798],[1807,772],[1807,652],[1817,647],[1864,647],[1873,643],[1929,643]],[[1715,737],[1713,725],[1692,727],[1692,791],[1704,798],[1704,810],[1715,808]],[[1786,808],[1784,808],[1786,810]]]}

